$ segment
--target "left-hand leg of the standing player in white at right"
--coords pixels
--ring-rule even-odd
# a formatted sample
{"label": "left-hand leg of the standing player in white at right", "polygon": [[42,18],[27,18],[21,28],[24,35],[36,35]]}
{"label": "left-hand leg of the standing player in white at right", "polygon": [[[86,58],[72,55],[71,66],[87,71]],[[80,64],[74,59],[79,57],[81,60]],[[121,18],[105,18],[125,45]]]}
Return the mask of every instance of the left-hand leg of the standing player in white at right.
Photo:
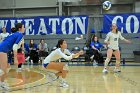
{"label": "left-hand leg of the standing player in white at right", "polygon": [[107,58],[106,58],[106,60],[105,60],[105,62],[104,62],[104,69],[103,69],[103,73],[107,73],[108,72],[108,63],[109,63],[109,61],[110,61],[110,59],[111,59],[111,57],[112,57],[112,53],[113,53],[113,50],[112,49],[108,49],[107,50]]}

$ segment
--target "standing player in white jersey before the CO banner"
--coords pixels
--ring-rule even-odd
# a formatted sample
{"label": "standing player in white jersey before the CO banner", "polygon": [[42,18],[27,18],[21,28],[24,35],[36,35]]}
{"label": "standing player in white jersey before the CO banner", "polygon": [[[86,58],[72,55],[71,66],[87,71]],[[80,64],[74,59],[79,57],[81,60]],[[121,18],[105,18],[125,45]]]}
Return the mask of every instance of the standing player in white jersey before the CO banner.
{"label": "standing player in white jersey before the CO banner", "polygon": [[121,72],[121,70],[120,70],[119,39],[125,41],[126,43],[131,43],[131,41],[122,37],[121,32],[118,31],[117,25],[113,23],[112,27],[111,27],[111,32],[109,32],[107,34],[106,39],[104,40],[104,42],[108,46],[108,50],[107,50],[107,58],[106,58],[105,63],[104,63],[104,69],[102,71],[103,73],[108,72],[107,66],[108,66],[108,63],[112,57],[112,54],[114,54],[115,58],[116,58],[116,65],[115,65],[114,72]]}

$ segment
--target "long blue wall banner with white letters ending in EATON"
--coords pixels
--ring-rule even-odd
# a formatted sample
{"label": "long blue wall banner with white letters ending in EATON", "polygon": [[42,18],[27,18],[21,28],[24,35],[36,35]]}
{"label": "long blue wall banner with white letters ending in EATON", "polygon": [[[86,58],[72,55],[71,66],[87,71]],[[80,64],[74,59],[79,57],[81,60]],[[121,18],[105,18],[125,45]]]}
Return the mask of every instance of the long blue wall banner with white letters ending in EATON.
{"label": "long blue wall banner with white letters ending in EATON", "polygon": [[86,34],[88,16],[50,16],[31,18],[0,18],[0,28],[10,32],[16,23],[25,25],[25,35]]}

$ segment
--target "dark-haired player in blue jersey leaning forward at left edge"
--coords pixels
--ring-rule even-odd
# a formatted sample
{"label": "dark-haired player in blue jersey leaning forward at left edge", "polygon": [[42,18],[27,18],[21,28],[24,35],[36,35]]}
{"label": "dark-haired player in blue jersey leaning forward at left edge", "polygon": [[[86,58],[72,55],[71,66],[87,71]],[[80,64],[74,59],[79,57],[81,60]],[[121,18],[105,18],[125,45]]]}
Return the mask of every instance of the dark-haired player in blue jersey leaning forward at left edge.
{"label": "dark-haired player in blue jersey leaning forward at left edge", "polygon": [[8,90],[8,85],[4,82],[7,75],[7,53],[13,49],[14,53],[14,63],[18,64],[17,61],[17,49],[20,47],[23,34],[24,25],[22,23],[17,23],[15,25],[15,32],[6,37],[3,42],[0,43],[0,88]]}

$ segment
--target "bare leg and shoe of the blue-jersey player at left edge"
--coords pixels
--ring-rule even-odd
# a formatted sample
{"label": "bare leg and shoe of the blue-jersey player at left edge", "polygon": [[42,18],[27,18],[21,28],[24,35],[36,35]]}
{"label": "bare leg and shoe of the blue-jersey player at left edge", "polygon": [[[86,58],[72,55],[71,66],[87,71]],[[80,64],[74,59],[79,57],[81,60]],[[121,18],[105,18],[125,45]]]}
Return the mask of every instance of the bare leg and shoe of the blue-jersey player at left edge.
{"label": "bare leg and shoe of the blue-jersey player at left edge", "polygon": [[0,53],[0,86],[6,90],[9,89],[8,85],[4,82],[7,75],[7,53]]}

